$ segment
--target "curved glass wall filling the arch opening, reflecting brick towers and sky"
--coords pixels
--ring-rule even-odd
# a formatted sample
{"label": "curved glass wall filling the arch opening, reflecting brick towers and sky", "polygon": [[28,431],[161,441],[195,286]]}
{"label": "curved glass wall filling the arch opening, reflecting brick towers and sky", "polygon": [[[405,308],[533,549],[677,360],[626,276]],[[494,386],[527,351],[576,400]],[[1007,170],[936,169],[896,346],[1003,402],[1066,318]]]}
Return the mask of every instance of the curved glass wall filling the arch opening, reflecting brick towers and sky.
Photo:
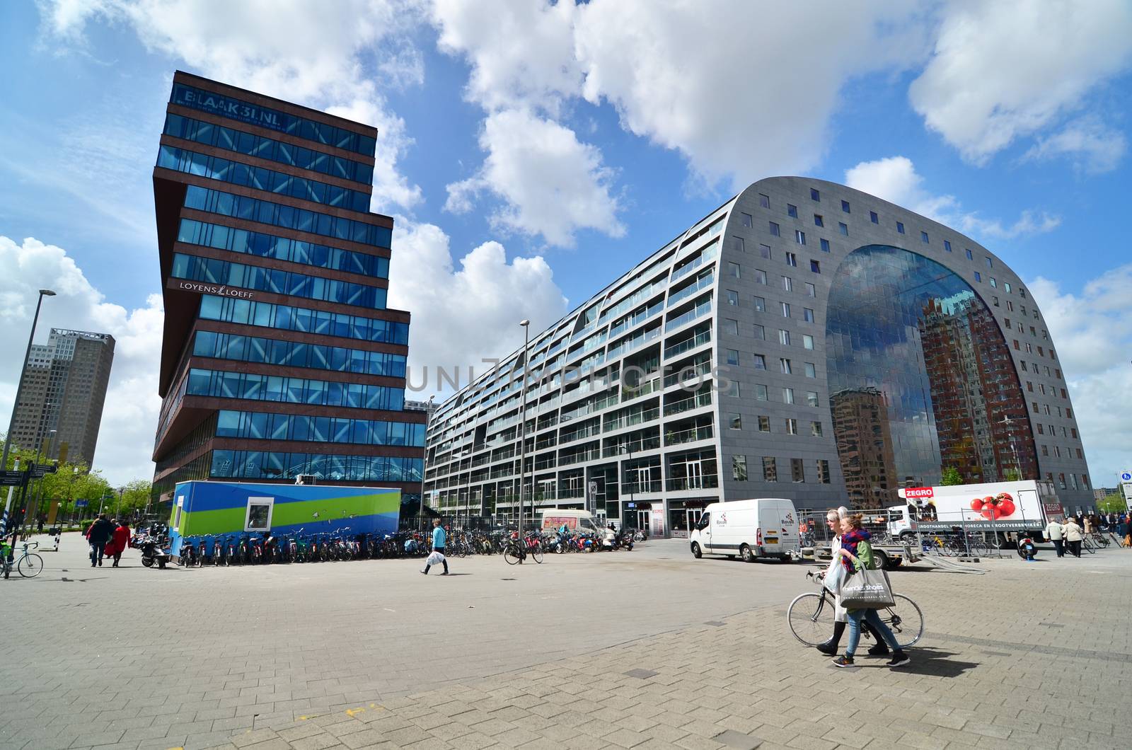
{"label": "curved glass wall filling the arch opening, reflecting brick towers and sky", "polygon": [[1034,477],[1021,383],[997,322],[962,278],[904,249],[871,245],[838,267],[826,317],[830,411],[849,498],[897,488]]}

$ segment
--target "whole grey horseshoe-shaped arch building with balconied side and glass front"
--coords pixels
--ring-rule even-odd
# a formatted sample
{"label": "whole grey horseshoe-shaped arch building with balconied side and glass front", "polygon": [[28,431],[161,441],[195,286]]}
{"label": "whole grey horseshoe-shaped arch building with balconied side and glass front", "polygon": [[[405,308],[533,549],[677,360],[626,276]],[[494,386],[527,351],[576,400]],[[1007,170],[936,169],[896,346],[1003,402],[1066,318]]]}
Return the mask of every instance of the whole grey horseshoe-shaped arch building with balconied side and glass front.
{"label": "whole grey horseshoe-shaped arch building with balconied side and glass front", "polygon": [[516,512],[524,408],[535,509],[670,536],[719,501],[892,505],[947,467],[1094,502],[1066,376],[1018,274],[842,185],[755,182],[532,331],[528,352],[429,425],[424,489],[443,512]]}

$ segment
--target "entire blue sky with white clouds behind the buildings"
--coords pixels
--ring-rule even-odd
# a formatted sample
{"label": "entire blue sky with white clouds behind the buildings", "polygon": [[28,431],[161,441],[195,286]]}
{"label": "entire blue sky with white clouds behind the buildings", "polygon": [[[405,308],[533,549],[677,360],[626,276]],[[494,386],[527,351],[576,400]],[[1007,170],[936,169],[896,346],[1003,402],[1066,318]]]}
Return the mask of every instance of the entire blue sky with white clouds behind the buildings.
{"label": "entire blue sky with white clouds behind the buildings", "polygon": [[49,283],[41,339],[114,333],[98,462],[147,476],[151,173],[181,68],[379,127],[374,210],[397,222],[391,293],[417,366],[508,351],[515,321],[549,324],[749,181],[812,174],[940,219],[1030,283],[1110,485],[1132,466],[1132,8],[798,5],[3,3],[6,343]]}

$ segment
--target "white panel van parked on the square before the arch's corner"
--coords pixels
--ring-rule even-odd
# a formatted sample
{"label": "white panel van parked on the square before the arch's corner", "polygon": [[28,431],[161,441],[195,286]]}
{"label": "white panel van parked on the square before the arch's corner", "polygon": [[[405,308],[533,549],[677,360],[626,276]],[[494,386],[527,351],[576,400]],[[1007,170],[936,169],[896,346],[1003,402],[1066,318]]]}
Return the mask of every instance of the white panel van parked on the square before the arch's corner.
{"label": "white panel van parked on the square before the arch's corner", "polygon": [[798,513],[782,497],[758,497],[712,503],[691,534],[692,555],[788,560],[801,551]]}

